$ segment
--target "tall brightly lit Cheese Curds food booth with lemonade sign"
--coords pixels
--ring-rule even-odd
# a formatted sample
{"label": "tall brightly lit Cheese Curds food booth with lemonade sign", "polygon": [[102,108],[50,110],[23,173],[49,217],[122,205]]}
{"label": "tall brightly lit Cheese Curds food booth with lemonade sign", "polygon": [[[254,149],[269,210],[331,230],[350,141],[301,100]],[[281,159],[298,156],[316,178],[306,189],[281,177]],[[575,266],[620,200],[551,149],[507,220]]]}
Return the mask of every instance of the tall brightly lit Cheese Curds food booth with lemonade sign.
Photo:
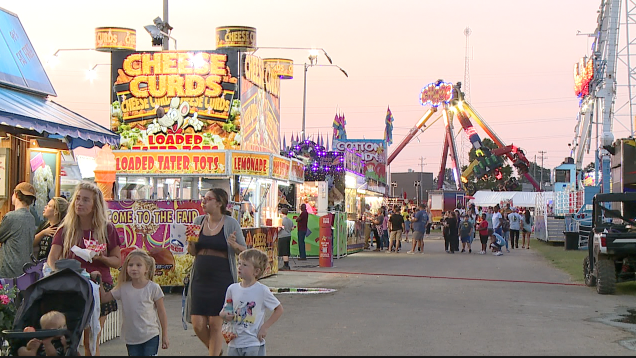
{"label": "tall brightly lit Cheese Curds food booth with lemonade sign", "polygon": [[[223,28],[217,40],[239,30]],[[275,274],[279,186],[302,183],[294,170],[304,171],[299,160],[279,155],[279,80],[286,77],[235,42],[204,51],[120,51],[111,63],[111,125],[121,145],[113,151],[109,208],[125,246],[156,254],[158,283],[182,285],[192,261],[188,225],[203,214],[202,195],[223,188],[247,247],[265,251],[265,276]]]}

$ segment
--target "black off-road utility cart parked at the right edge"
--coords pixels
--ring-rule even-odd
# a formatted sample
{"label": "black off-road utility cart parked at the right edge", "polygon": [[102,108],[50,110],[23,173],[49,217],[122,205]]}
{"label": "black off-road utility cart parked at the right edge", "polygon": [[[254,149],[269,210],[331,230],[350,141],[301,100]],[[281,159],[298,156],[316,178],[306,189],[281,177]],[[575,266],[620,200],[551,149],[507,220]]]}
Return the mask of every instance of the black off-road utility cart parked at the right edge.
{"label": "black off-road utility cart parked at the right edge", "polygon": [[594,196],[585,284],[600,294],[616,292],[616,283],[636,281],[636,193]]}

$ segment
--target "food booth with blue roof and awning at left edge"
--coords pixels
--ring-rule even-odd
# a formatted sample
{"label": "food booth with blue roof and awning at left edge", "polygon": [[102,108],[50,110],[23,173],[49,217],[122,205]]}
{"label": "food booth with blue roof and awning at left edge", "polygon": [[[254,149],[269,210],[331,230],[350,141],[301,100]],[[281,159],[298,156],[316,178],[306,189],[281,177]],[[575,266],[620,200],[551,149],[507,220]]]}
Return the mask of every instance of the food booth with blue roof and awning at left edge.
{"label": "food booth with blue roof and awning at left edge", "polygon": [[44,220],[48,201],[70,198],[82,178],[73,150],[116,145],[118,136],[51,100],[57,94],[18,16],[0,9],[0,217],[12,210],[22,181],[37,194],[32,213]]}

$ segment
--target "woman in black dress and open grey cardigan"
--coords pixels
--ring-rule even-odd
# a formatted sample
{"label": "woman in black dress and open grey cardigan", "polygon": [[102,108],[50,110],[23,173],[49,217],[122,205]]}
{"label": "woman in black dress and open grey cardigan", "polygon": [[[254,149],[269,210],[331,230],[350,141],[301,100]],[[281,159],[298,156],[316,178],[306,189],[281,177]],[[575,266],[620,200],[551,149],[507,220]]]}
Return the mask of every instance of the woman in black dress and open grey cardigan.
{"label": "woman in black dress and open grey cardigan", "polygon": [[225,303],[225,292],[238,281],[236,254],[246,249],[240,224],[227,211],[228,195],[223,189],[210,189],[203,197],[205,215],[194,223],[201,225],[197,242],[188,243],[194,256],[190,283],[190,315],[197,337],[211,356],[223,347],[219,312]]}

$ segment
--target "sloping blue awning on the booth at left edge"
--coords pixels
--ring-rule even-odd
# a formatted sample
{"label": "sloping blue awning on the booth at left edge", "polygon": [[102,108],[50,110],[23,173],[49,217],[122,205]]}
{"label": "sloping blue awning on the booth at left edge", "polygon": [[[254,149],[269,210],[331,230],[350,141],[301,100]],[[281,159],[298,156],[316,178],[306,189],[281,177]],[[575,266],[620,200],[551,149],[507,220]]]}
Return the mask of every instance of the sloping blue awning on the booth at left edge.
{"label": "sloping blue awning on the booth at left edge", "polygon": [[0,88],[0,124],[66,137],[70,149],[116,146],[119,135],[47,98]]}

